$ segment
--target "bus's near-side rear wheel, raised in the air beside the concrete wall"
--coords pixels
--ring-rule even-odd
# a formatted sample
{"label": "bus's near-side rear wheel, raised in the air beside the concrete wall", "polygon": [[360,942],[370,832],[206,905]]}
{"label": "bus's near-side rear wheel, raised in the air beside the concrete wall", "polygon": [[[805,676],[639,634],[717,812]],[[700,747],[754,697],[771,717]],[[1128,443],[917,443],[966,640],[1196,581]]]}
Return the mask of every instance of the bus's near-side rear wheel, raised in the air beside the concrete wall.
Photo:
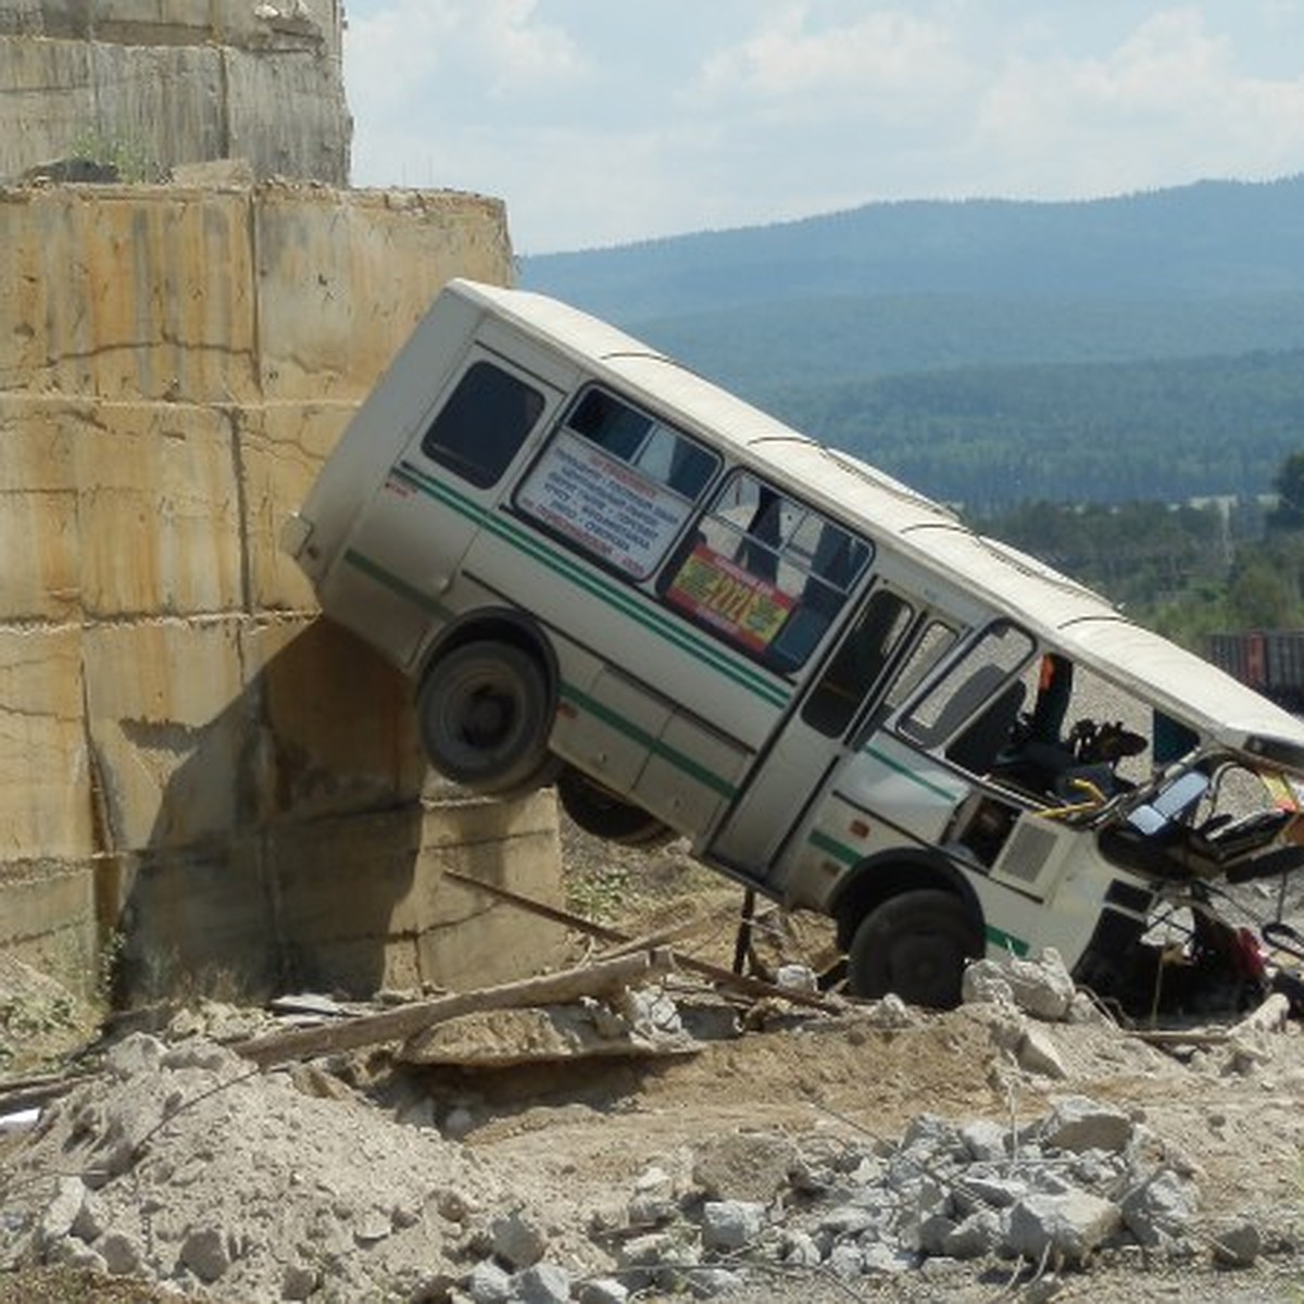
{"label": "bus's near-side rear wheel, raised in the air beside the concrete wall", "polygon": [[511,643],[463,643],[439,657],[417,695],[421,745],[441,775],[489,797],[553,777],[552,694],[539,661]]}

